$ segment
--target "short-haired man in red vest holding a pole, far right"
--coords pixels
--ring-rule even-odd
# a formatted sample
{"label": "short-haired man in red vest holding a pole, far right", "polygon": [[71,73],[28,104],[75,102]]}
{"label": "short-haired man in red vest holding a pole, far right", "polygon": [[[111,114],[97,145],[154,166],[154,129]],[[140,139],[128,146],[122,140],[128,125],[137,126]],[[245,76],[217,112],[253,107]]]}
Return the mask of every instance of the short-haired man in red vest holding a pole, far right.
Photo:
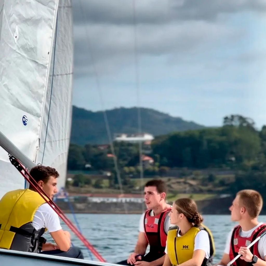
{"label": "short-haired man in red vest holding a pole, far right", "polygon": [[220,265],[226,265],[235,256],[242,256],[234,263],[235,266],[266,266],[266,236],[263,236],[250,249],[247,246],[266,230],[266,224],[258,222],[262,208],[262,197],[259,192],[251,189],[241,190],[229,208],[231,219],[239,222],[228,235],[225,251]]}

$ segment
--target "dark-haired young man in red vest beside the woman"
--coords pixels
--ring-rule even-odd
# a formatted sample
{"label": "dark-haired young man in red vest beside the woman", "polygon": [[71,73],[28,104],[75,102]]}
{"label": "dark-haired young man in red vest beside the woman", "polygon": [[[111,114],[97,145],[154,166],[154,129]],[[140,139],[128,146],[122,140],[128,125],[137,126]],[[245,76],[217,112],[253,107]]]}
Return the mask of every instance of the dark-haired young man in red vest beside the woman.
{"label": "dark-haired young man in red vest beside the woman", "polygon": [[[148,210],[140,218],[138,242],[128,259],[118,264],[163,265],[167,232],[170,227],[168,214],[171,211],[171,205],[165,202],[166,192],[166,185],[162,180],[151,180],[145,184],[144,199]],[[150,251],[145,255],[148,244]]]}

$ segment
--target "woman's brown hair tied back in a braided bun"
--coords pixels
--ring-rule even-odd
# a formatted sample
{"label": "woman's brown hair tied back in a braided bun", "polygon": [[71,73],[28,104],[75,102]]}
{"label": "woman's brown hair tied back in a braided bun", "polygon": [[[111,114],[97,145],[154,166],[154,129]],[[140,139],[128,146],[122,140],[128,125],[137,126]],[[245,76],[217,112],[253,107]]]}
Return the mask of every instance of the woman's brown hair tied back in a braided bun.
{"label": "woman's brown hair tied back in a braided bun", "polygon": [[190,223],[200,225],[203,222],[203,218],[198,213],[197,204],[194,200],[190,198],[181,198],[174,203],[178,213],[184,214]]}

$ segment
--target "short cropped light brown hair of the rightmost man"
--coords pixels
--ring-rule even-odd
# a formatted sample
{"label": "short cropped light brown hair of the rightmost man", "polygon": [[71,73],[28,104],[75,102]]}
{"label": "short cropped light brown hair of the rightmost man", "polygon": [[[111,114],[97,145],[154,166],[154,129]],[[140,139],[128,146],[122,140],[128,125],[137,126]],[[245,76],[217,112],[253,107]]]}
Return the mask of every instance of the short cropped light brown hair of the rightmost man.
{"label": "short cropped light brown hair of the rightmost man", "polygon": [[261,194],[256,190],[244,189],[240,190],[237,194],[240,203],[247,209],[251,218],[256,218],[262,209],[263,200]]}

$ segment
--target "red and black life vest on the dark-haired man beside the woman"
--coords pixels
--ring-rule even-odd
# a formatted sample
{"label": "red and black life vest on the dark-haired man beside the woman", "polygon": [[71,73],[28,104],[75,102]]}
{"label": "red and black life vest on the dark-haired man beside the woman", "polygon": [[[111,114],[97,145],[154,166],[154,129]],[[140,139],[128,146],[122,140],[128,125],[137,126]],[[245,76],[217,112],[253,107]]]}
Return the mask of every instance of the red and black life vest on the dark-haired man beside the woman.
{"label": "red and black life vest on the dark-haired man beside the woman", "polygon": [[167,232],[164,231],[164,221],[171,208],[162,211],[156,216],[150,216],[151,210],[144,215],[144,231],[150,245],[150,252],[164,254]]}

